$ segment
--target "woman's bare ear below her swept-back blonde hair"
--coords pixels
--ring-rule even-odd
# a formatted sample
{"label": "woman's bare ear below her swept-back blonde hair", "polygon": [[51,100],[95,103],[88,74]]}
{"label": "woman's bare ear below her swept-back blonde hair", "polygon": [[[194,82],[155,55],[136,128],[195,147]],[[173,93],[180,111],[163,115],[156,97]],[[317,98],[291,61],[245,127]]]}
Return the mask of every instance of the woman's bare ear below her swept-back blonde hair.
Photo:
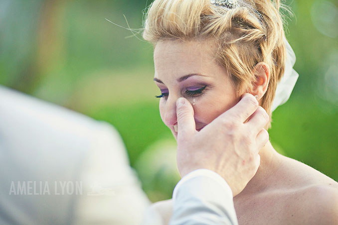
{"label": "woman's bare ear below her swept-back blonde hair", "polygon": [[266,90],[268,89],[269,81],[270,81],[270,68],[268,64],[264,62],[259,62],[254,67],[254,74],[256,80],[253,81],[253,88],[251,90],[251,94],[254,96],[258,96],[258,100],[260,100]]}

